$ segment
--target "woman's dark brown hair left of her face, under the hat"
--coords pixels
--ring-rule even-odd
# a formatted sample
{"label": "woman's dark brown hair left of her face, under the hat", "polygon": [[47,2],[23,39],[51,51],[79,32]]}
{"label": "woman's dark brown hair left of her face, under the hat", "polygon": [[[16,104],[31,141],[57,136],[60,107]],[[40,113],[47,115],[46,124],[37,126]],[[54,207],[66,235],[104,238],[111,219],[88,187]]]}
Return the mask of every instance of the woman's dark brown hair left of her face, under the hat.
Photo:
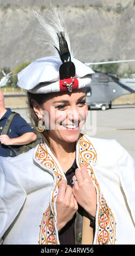
{"label": "woman's dark brown hair left of her face, under the hat", "polygon": [[[38,126],[38,117],[33,109],[33,100],[35,100],[39,105],[42,105],[46,99],[47,94],[35,94],[35,93],[29,93],[27,92],[28,96],[28,106],[29,106],[29,112],[30,112],[30,121],[33,127],[36,130],[36,126]],[[44,141],[49,145],[49,137],[48,132],[45,129],[43,132],[39,132],[40,135],[42,135]]]}

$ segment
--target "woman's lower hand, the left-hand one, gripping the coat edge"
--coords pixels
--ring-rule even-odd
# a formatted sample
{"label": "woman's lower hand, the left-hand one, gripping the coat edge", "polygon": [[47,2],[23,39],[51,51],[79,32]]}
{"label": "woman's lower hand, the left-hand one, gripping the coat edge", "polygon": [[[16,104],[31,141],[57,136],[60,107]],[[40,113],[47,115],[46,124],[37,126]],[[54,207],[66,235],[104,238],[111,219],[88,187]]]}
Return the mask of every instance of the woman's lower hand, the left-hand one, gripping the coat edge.
{"label": "woman's lower hand, the left-hand one, gripping the coat edge", "polygon": [[73,196],[72,187],[66,185],[66,180],[62,180],[56,199],[58,231],[60,231],[70,220],[72,220],[77,210],[78,203]]}

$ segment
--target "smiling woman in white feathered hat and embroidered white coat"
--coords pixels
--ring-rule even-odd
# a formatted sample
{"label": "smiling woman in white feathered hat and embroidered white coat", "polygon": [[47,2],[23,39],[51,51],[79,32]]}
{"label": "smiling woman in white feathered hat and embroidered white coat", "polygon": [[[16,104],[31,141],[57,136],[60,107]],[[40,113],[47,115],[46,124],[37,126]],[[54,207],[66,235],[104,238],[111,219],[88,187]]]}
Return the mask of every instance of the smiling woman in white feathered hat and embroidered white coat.
{"label": "smiling woman in white feathered hat and embroidered white coat", "polygon": [[94,72],[73,58],[53,12],[51,26],[36,15],[59,56],[18,74],[43,141],[14,159],[1,157],[1,241],[134,244],[134,161],[114,140],[81,135]]}

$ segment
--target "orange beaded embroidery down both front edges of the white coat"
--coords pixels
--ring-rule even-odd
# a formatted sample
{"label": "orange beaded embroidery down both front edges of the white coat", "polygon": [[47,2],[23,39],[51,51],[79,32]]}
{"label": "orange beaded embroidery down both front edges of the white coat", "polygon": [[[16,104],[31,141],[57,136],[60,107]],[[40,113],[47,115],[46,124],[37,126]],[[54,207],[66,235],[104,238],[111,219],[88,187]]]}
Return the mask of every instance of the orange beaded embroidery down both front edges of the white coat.
{"label": "orange beaded embroidery down both front edges of the white coat", "polygon": [[[54,161],[53,157],[48,153],[44,144],[40,144],[36,151],[36,160],[40,161],[44,167],[49,168],[56,177],[55,188],[52,193],[52,209],[54,212],[54,200],[59,191],[59,184],[62,178],[64,178]],[[98,208],[98,227],[96,227],[97,237],[94,238],[95,243],[99,245],[107,245],[115,243],[115,220],[110,208],[106,203],[106,200],[100,192],[100,187],[95,178],[93,169],[91,167],[91,162],[97,162],[97,153],[89,142],[88,138],[83,135],[79,138],[79,165],[87,165],[87,170],[89,176],[93,180],[95,186],[97,187],[98,197],[99,197],[99,208]],[[46,212],[43,214],[42,222],[40,225],[40,239],[38,243],[40,245],[57,244],[56,232],[54,227],[54,215],[51,211],[50,205],[48,206]]]}

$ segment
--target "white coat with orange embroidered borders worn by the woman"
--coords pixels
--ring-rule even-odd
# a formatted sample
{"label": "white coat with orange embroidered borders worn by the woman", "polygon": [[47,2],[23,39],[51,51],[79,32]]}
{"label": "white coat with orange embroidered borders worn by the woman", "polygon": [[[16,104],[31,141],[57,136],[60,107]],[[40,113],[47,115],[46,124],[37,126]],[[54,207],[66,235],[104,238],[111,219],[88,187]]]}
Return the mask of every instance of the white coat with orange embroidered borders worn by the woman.
{"label": "white coat with orange embroidered borders worn by the woman", "polygon": [[[0,157],[0,239],[4,245],[59,244],[56,196],[66,179],[47,145]],[[135,244],[135,164],[114,140],[82,136],[76,163],[87,163],[97,190],[93,244]]]}

